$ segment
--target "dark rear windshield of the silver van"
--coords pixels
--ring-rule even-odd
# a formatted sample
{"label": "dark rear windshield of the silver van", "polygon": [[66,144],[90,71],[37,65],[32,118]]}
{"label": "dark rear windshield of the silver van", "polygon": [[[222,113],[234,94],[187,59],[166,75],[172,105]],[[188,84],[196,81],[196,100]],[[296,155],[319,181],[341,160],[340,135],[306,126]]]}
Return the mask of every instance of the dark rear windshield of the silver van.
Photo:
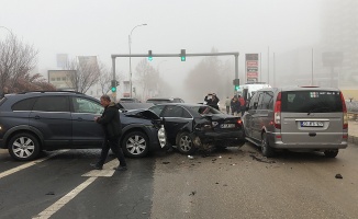
{"label": "dark rear windshield of the silver van", "polygon": [[282,92],[281,100],[282,112],[343,112],[340,92],[337,91],[288,91]]}

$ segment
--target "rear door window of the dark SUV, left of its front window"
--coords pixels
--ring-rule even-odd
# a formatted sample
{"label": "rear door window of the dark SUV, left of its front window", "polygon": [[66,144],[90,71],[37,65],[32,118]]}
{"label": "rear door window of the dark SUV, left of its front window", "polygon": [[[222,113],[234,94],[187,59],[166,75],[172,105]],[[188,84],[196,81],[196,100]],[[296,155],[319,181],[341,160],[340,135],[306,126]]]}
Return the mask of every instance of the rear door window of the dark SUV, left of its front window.
{"label": "rear door window of the dark SUV, left of its front window", "polygon": [[36,100],[33,111],[69,112],[69,101],[67,96],[42,96]]}

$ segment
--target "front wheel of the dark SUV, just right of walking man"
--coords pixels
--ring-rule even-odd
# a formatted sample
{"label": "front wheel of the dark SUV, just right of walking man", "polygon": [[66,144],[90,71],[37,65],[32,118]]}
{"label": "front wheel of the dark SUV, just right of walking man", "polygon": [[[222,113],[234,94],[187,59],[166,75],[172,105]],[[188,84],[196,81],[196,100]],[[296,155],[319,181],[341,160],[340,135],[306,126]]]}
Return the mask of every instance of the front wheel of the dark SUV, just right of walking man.
{"label": "front wheel of the dark SUV, just right of walking man", "polygon": [[128,132],[123,139],[122,149],[127,157],[145,157],[149,152],[148,137],[142,131]]}

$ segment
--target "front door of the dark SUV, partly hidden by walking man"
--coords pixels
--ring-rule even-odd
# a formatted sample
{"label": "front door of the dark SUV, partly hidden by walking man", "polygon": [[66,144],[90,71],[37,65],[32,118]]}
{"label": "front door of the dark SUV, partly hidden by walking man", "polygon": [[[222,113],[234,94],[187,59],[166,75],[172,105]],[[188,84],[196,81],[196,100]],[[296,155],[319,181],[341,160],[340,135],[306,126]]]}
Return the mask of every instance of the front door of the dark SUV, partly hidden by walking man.
{"label": "front door of the dark SUV, partly hidden by walking man", "polygon": [[76,148],[98,148],[102,145],[104,131],[94,117],[101,116],[103,106],[81,96],[71,97],[72,143]]}

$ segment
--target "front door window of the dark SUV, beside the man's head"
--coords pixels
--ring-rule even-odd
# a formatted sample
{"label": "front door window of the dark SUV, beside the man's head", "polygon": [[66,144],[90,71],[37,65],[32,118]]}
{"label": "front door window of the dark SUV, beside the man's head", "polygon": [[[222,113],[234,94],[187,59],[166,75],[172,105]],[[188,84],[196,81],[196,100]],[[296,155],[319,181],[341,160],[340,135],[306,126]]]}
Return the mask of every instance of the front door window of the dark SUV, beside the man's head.
{"label": "front door window of the dark SUV, beside the man's head", "polygon": [[72,108],[75,113],[101,114],[103,112],[101,104],[78,96],[72,97]]}

